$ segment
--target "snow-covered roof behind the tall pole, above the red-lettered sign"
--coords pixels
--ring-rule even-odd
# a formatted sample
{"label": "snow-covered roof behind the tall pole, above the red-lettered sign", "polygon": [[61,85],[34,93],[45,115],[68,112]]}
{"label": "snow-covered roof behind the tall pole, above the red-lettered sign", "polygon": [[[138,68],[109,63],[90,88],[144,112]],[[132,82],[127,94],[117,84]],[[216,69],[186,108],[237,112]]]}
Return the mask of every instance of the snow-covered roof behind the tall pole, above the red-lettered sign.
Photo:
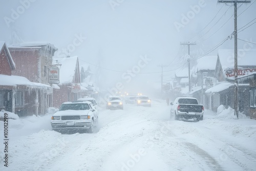
{"label": "snow-covered roof behind the tall pole, above the red-lettered sign", "polygon": [[[233,49],[220,49],[218,51],[218,56],[223,70],[234,67]],[[256,66],[256,49],[239,49],[238,66]]]}

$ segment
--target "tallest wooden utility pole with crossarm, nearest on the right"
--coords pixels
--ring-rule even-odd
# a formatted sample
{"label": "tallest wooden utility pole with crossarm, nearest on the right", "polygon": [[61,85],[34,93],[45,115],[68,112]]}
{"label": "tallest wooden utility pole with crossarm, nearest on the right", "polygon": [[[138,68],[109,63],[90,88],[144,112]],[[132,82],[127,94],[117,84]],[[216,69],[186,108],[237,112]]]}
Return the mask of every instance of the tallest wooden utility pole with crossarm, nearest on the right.
{"label": "tallest wooden utility pole with crossarm, nearest on the right", "polygon": [[233,3],[234,4],[234,115],[239,114],[238,110],[238,8],[237,3],[250,3],[251,1],[218,1],[218,3]]}

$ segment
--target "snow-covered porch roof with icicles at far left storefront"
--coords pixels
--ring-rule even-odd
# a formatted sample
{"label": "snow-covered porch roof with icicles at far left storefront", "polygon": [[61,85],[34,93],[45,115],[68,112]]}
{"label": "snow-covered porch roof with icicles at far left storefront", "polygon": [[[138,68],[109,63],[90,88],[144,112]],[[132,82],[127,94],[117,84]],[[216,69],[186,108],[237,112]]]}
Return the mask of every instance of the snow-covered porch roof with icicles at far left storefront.
{"label": "snow-covered porch roof with icicles at far left storefront", "polygon": [[46,84],[37,83],[37,82],[30,82],[27,78],[16,76],[16,75],[1,75],[0,74],[0,86],[30,86],[32,88],[51,88],[51,86],[48,86]]}

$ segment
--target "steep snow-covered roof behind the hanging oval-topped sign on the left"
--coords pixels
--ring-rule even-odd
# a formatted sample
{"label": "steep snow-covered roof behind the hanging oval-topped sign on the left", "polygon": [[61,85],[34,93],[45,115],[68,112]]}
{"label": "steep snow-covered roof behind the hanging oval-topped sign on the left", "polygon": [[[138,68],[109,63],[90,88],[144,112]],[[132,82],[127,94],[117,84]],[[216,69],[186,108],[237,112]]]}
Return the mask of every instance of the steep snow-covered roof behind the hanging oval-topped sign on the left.
{"label": "steep snow-covered roof behind the hanging oval-topped sign on the left", "polygon": [[59,67],[59,82],[72,83],[75,75],[77,56],[66,58],[54,58],[53,65],[60,64]]}

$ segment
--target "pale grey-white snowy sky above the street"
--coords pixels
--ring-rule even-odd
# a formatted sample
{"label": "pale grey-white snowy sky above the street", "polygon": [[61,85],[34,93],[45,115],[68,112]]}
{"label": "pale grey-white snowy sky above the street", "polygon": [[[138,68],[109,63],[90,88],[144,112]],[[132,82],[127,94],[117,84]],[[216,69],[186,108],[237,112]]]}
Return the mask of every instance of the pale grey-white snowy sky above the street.
{"label": "pale grey-white snowy sky above the street", "polygon": [[[113,0],[120,2],[114,9],[109,0],[33,1],[28,4],[29,0],[0,0],[0,40],[10,44],[11,34],[16,31],[25,41],[49,41],[54,44],[59,49],[55,52],[56,56],[63,56],[65,53],[62,49],[74,45],[75,40],[76,46],[70,51],[71,56],[77,55],[81,64],[82,61],[90,62],[94,73],[100,73],[99,83],[109,87],[116,82],[126,83],[121,77],[121,72],[138,65],[141,55],[152,59],[141,68],[141,72],[161,72],[159,65],[168,66],[164,67],[164,71],[175,70],[184,65],[181,57],[187,53],[187,47],[181,46],[180,42],[196,41],[197,45],[190,47],[190,55],[198,57],[233,32],[233,7],[229,8],[230,4],[218,4],[214,0]],[[255,18],[254,2],[255,0],[252,0],[250,4],[243,4],[239,8],[238,28]],[[198,7],[200,4],[203,4],[200,9],[193,11],[192,7]],[[219,10],[219,14],[214,18]],[[19,12],[18,16],[14,16],[13,11]],[[175,22],[182,24],[182,16],[189,14],[192,14],[189,22],[178,31]],[[9,27],[7,17],[13,19]],[[212,18],[214,19],[207,26]],[[206,29],[200,32],[205,26]],[[238,37],[255,42],[255,27],[256,24],[250,26],[240,32]],[[202,35],[203,37],[198,39]],[[81,41],[77,41],[77,36],[82,37]],[[233,39],[227,40],[218,49],[230,49],[233,44]],[[239,48],[243,48],[244,44],[246,42],[238,41]],[[251,46],[256,49],[255,45]],[[217,50],[208,55],[217,55]],[[180,53],[176,57],[178,52]],[[100,65],[105,69],[97,71],[93,65]],[[165,72],[165,80],[171,77],[172,73]],[[145,86],[146,82],[160,81],[160,75],[161,73],[136,74],[127,85],[137,86],[139,83]]]}

